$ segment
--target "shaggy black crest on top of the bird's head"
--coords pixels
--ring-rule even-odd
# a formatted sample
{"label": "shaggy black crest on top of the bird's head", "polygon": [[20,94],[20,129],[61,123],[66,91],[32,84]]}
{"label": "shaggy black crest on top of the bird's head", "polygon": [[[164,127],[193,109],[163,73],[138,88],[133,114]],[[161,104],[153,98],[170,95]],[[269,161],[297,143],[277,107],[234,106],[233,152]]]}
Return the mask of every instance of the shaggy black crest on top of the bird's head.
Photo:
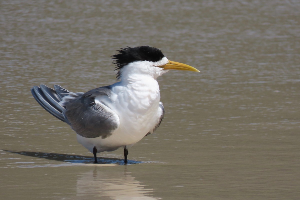
{"label": "shaggy black crest on top of the bird's head", "polygon": [[159,61],[161,58],[164,58],[164,54],[161,50],[150,47],[150,46],[137,46],[137,47],[129,47],[121,48],[121,50],[117,50],[116,55],[113,55],[114,64],[116,64],[115,70],[119,70],[117,72],[117,79],[120,78],[121,73],[120,69],[125,65],[134,62],[134,61]]}

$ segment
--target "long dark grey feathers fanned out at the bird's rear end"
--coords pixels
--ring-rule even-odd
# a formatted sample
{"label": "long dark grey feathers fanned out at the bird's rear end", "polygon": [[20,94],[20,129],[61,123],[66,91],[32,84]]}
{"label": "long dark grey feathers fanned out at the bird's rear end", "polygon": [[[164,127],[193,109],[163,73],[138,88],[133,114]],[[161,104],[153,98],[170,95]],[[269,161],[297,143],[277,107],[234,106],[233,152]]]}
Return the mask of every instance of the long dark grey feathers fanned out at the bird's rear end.
{"label": "long dark grey feathers fanned out at the bird's rear end", "polygon": [[31,88],[32,96],[35,100],[51,115],[60,119],[63,122],[68,123],[64,117],[64,107],[59,104],[64,96],[69,94],[69,91],[62,88],[59,85],[54,85],[54,89],[47,87],[46,85],[33,86]]}

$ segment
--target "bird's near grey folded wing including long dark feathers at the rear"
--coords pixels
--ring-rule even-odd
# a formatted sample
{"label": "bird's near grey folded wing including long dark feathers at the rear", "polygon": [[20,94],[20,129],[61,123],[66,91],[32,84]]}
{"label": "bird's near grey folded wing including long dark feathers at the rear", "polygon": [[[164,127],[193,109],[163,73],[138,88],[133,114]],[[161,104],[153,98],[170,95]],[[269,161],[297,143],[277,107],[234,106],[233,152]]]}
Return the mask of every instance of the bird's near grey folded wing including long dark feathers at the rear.
{"label": "bird's near grey folded wing including long dark feathers at the rear", "polygon": [[[119,116],[108,106],[110,88],[96,88],[86,93],[72,93],[59,85],[55,90],[46,85],[34,86],[32,95],[56,118],[69,124],[82,137],[102,139],[119,128]],[[104,102],[95,101],[105,99]]]}

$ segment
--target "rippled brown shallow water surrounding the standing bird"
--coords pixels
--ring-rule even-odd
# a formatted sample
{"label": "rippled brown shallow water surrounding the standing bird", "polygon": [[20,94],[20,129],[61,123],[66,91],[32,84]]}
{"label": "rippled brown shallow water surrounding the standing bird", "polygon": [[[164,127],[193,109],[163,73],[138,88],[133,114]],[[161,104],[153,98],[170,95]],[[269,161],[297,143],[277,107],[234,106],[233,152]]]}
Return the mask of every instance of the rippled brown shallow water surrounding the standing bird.
{"label": "rippled brown shallow water surrounding the standing bird", "polygon": [[[295,0],[0,1],[1,199],[300,199],[299,19]],[[30,88],[110,85],[140,45],[202,73],[159,78],[165,118],[130,165],[91,164]]]}

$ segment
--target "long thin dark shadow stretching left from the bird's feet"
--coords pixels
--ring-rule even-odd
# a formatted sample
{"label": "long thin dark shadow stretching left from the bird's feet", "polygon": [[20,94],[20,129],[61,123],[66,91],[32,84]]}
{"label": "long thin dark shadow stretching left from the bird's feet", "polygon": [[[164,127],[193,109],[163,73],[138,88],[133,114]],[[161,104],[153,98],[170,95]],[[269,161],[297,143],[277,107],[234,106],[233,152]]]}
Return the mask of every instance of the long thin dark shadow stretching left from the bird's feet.
{"label": "long thin dark shadow stretching left from the bird's feet", "polygon": [[[2,150],[9,153],[20,154],[23,156],[44,158],[48,160],[55,160],[55,161],[66,162],[66,163],[83,163],[83,164],[94,163],[94,157],[91,156],[78,156],[72,154],[45,153],[45,152],[35,152],[35,151],[10,151],[5,149]],[[98,157],[97,160],[98,160],[98,164],[124,165],[124,159]],[[136,160],[127,160],[127,165],[138,164],[138,163],[144,163],[144,162],[136,161]]]}

